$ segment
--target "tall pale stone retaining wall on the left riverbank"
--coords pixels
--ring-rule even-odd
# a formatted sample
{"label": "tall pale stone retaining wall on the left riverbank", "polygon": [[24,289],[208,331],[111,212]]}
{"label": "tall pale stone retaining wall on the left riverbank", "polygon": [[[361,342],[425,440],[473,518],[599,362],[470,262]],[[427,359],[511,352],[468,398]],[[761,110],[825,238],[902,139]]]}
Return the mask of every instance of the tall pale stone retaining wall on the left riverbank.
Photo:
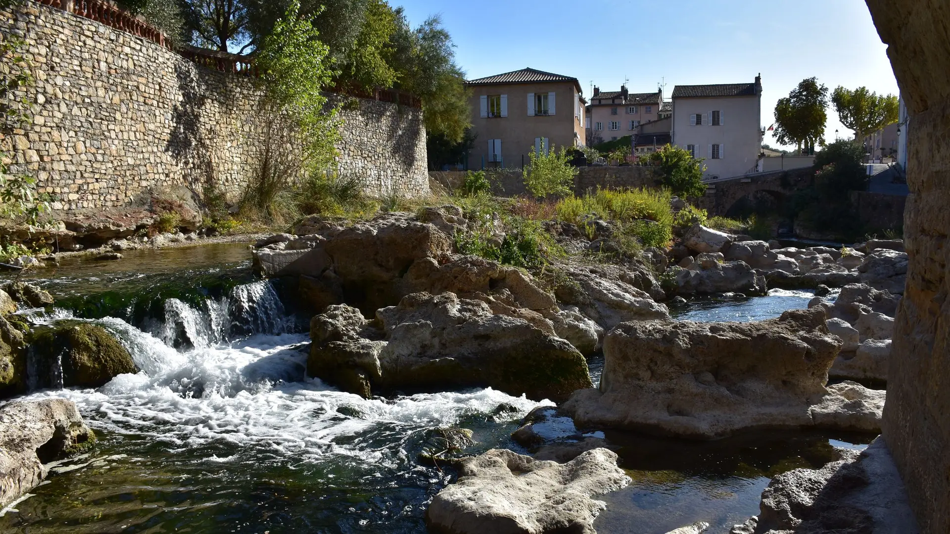
{"label": "tall pale stone retaining wall on the left riverbank", "polygon": [[[121,208],[180,185],[235,196],[253,172],[262,144],[253,80],[29,1],[0,10],[0,36],[26,41],[36,80],[20,93],[34,104],[32,124],[2,147],[14,172],[56,197],[54,209]],[[340,172],[372,193],[428,192],[421,111],[355,102],[340,113]]]}

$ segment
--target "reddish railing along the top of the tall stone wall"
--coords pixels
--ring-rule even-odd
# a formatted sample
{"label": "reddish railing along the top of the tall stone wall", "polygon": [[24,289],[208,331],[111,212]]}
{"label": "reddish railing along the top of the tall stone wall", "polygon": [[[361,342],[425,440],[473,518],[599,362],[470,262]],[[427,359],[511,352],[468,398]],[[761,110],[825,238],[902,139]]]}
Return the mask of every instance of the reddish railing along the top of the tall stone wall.
{"label": "reddish railing along the top of the tall stone wall", "polygon": [[[168,38],[161,33],[161,30],[150,26],[141,18],[132,15],[107,0],[34,1],[44,6],[49,6],[50,8],[64,10],[96,21],[109,28],[120,29],[126,33],[137,35],[161,47],[173,50],[180,54],[181,57],[201,67],[240,76],[257,76],[257,68],[254,67],[251,57],[206,48],[196,48],[188,45],[181,45],[178,49],[174,49]],[[408,107],[422,107],[422,100],[419,97],[395,89],[376,89],[372,92],[368,92],[362,89],[337,85],[333,88],[333,92],[355,98],[389,102]]]}

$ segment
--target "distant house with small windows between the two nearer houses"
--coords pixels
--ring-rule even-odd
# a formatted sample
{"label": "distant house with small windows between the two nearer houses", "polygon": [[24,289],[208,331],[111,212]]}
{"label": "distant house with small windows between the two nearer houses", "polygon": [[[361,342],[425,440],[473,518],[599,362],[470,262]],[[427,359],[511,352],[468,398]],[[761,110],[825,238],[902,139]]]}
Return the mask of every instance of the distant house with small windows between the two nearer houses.
{"label": "distant house with small windows between the two nearer houses", "polygon": [[601,91],[594,87],[590,117],[585,124],[591,128],[588,139],[601,143],[633,135],[640,124],[659,118],[662,105],[663,91],[631,93],[626,86],[620,86],[618,91]]}

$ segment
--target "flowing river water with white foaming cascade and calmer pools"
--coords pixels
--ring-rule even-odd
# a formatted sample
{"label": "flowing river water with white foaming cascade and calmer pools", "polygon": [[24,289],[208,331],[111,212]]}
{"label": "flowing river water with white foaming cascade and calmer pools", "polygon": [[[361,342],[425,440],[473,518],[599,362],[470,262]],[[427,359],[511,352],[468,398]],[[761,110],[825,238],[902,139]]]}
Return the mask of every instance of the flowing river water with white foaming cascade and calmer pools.
{"label": "flowing river water with white foaming cascade and calmer pools", "polygon": [[[245,245],[134,251],[36,275],[57,308],[26,314],[100,324],[142,372],[98,390],[26,396],[75,401],[100,441],[0,512],[0,531],[425,532],[428,502],[454,476],[419,458],[436,444],[435,429],[473,430],[470,453],[523,451],[509,434],[540,404],[523,397],[476,389],[366,400],[307,377],[309,317],[252,277],[248,256]],[[808,298],[700,301],[675,314],[754,320]],[[607,438],[634,483],[602,497],[610,507],[599,532],[658,534],[696,519],[741,521],[756,513],[769,476],[820,465],[829,438],[866,436]]]}

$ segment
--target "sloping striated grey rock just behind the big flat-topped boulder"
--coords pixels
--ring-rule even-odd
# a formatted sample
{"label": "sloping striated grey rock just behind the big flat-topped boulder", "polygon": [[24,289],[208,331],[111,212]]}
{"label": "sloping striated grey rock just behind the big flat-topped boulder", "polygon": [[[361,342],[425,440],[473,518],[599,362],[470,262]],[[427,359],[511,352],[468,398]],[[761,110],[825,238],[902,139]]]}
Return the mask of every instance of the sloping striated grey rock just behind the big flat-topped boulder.
{"label": "sloping striated grey rock just behind the big flat-topped boulder", "polygon": [[624,321],[670,316],[665,305],[640,289],[654,287],[649,274],[613,265],[566,265],[561,273],[555,288],[558,300],[576,306],[605,331]]}

